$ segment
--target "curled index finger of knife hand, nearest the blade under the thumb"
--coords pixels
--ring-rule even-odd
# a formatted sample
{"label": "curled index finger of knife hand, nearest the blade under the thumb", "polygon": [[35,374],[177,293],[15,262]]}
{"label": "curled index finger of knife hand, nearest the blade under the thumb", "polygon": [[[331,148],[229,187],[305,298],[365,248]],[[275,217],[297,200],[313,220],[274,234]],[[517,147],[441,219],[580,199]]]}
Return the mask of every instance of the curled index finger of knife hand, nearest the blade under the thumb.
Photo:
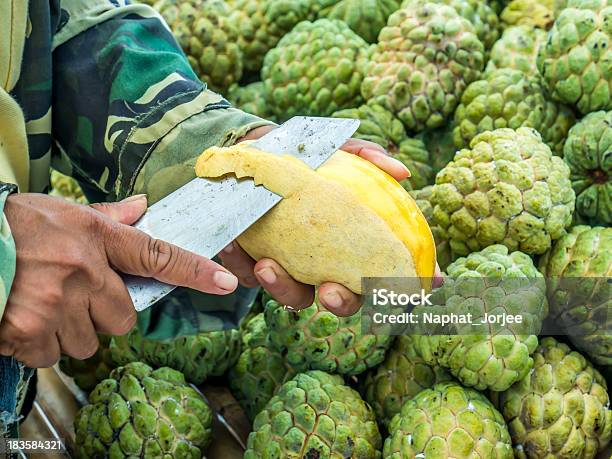
{"label": "curled index finger of knife hand, nearest the blade under the thumb", "polygon": [[104,287],[90,300],[89,315],[98,333],[121,336],[136,325],[136,309],[125,284],[109,270]]}

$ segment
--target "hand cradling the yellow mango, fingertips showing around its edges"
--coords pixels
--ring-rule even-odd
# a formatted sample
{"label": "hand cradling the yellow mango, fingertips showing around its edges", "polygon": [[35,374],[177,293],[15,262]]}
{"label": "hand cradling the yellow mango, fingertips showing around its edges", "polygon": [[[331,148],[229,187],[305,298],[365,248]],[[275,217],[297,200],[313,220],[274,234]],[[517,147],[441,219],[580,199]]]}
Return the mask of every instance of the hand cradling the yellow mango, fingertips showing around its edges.
{"label": "hand cradling the yellow mango, fingertips showing around its edges", "polygon": [[[274,127],[266,126],[251,131],[241,140],[257,139]],[[350,139],[342,150],[361,156],[375,164],[397,181],[410,177],[410,172],[401,162],[390,157],[380,145],[359,139]],[[294,309],[303,309],[310,306],[314,300],[314,288],[311,285],[295,281],[274,260],[264,258],[255,262],[236,242],[228,245],[220,254],[223,264],[246,287],[261,285],[279,302]],[[436,271],[438,278],[439,270]],[[439,283],[434,280],[435,283]],[[326,282],[319,286],[319,302],[338,316],[350,316],[361,305],[359,295],[346,287],[333,282]]]}

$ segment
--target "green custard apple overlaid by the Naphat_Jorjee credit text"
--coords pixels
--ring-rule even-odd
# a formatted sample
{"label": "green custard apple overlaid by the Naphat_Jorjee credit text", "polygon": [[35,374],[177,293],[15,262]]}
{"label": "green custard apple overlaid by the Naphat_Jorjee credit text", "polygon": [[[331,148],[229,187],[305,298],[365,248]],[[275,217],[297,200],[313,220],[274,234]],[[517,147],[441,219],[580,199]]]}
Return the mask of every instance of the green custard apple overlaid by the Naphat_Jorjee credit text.
{"label": "green custard apple overlaid by the Naphat_Jorjee credit text", "polygon": [[[447,368],[463,385],[479,390],[506,390],[533,365],[537,334],[548,312],[546,284],[529,256],[493,245],[459,258],[434,292],[434,306],[421,313],[472,314],[472,323],[443,329],[429,327],[414,336],[425,362]],[[433,308],[433,309],[426,309]],[[489,325],[490,334],[475,325],[490,316],[521,315],[523,323]]]}

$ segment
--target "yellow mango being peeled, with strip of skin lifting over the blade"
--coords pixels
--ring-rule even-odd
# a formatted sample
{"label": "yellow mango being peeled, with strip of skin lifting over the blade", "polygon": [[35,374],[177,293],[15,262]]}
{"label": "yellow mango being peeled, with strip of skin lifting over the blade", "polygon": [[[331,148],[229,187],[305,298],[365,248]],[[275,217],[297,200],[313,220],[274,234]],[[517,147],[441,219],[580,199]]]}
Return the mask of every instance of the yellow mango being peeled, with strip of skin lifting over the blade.
{"label": "yellow mango being peeled, with strip of skin lifting over the blade", "polygon": [[430,288],[435,245],[427,221],[372,163],[338,151],[313,171],[244,143],[198,158],[199,177],[226,174],[252,177],[284,198],[238,238],[254,259],[272,258],[300,282],[337,282],[359,294],[364,277],[418,277]]}

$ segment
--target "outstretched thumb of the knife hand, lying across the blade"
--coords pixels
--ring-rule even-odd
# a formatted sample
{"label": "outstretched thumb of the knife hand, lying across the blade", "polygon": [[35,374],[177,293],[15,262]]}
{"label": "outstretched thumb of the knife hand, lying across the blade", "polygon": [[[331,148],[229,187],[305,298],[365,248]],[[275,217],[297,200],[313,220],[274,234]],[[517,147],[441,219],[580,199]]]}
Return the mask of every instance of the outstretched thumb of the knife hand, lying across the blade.
{"label": "outstretched thumb of the knife hand, lying across the blade", "polygon": [[215,295],[227,295],[238,286],[236,276],[223,266],[131,226],[114,225],[103,237],[109,261],[121,272]]}

